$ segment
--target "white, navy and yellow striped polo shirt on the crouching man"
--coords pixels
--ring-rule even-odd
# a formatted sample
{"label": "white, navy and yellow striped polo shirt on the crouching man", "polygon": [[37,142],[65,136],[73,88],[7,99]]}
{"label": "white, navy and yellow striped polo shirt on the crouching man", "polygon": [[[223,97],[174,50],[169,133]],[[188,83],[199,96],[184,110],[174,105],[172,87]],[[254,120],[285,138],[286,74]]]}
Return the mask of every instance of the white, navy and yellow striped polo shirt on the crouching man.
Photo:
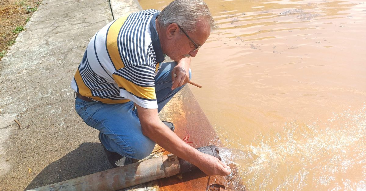
{"label": "white, navy and yellow striped polo shirt on the crouching man", "polygon": [[112,21],[90,40],[71,81],[82,96],[102,103],[126,103],[156,109],[154,77],[163,51],[149,9]]}

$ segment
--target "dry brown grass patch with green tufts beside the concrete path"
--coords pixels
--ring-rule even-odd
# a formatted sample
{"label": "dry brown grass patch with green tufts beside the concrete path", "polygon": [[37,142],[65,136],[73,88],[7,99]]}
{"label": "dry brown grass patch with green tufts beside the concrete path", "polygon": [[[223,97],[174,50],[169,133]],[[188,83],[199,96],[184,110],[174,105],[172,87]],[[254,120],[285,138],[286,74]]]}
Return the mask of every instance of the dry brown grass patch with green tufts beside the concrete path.
{"label": "dry brown grass patch with green tufts beside the concrete path", "polygon": [[41,0],[0,0],[0,59],[40,4]]}

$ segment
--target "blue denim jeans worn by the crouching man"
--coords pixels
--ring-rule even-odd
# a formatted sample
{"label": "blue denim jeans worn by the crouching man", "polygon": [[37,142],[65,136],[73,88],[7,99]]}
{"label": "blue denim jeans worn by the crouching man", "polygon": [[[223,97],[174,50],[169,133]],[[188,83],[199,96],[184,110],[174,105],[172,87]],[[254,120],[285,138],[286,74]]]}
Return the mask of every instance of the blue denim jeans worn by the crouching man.
{"label": "blue denim jeans worn by the crouching man", "polygon": [[[155,76],[155,92],[158,112],[165,104],[183,88],[171,90],[171,70],[176,62],[165,62]],[[191,70],[189,71],[191,77]],[[142,134],[137,110],[132,111],[132,101],[120,104],[86,102],[80,98],[75,100],[75,110],[84,122],[101,131],[100,140],[105,148],[122,156],[141,160],[154,149],[155,143]]]}

